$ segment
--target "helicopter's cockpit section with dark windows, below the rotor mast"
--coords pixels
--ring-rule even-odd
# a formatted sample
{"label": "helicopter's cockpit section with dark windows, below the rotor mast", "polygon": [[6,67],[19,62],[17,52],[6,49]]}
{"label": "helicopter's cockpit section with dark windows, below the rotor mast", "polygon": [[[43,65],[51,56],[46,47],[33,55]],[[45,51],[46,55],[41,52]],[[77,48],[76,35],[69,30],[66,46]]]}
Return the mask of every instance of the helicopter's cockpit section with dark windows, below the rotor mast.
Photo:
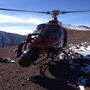
{"label": "helicopter's cockpit section with dark windows, below the rotor mast", "polygon": [[53,24],[40,24],[37,26],[37,33],[43,40],[60,40],[61,30],[59,25]]}

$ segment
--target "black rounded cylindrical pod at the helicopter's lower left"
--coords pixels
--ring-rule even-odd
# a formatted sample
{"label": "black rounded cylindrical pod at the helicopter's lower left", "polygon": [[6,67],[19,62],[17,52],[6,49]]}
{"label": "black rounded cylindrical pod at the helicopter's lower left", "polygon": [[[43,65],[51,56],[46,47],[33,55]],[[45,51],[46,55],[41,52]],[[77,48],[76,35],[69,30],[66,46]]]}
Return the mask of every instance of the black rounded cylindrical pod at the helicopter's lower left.
{"label": "black rounded cylindrical pod at the helicopter's lower left", "polygon": [[22,67],[29,67],[34,61],[37,60],[38,56],[39,50],[36,48],[31,48],[21,55],[18,63]]}

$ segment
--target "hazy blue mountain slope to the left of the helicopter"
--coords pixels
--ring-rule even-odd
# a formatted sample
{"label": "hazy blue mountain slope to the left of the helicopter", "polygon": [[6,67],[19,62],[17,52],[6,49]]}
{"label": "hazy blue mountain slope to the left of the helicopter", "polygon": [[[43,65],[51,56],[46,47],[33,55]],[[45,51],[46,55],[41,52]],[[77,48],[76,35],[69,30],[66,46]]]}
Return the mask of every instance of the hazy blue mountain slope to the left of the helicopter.
{"label": "hazy blue mountain slope to the left of the helicopter", "polygon": [[0,48],[18,45],[25,39],[25,36],[0,31]]}

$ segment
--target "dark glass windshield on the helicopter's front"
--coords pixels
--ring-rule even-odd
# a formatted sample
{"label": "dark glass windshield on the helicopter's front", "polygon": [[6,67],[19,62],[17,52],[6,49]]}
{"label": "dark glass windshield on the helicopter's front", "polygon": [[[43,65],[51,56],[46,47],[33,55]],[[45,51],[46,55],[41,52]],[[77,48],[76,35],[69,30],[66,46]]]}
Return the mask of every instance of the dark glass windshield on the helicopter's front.
{"label": "dark glass windshield on the helicopter's front", "polygon": [[61,30],[57,25],[46,25],[40,32],[42,39],[60,40]]}

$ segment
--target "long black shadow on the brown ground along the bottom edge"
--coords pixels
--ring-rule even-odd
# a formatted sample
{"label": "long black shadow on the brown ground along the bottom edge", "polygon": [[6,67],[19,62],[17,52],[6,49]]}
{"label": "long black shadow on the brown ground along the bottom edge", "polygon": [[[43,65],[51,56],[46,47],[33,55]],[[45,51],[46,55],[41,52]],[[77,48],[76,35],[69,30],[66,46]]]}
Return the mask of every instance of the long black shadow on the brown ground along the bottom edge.
{"label": "long black shadow on the brown ground along the bottom edge", "polygon": [[76,87],[66,85],[65,83],[61,83],[59,80],[51,79],[46,76],[33,76],[31,81],[47,90],[79,90]]}

